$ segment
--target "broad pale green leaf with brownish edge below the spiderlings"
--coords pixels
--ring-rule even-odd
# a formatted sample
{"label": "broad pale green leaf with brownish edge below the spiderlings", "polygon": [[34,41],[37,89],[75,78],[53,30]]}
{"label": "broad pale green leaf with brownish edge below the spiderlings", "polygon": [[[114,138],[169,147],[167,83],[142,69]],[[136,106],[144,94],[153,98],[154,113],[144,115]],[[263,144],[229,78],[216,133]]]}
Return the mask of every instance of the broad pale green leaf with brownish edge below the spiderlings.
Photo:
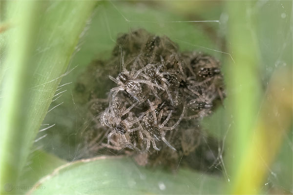
{"label": "broad pale green leaf with brownish edge below the spiderlings", "polygon": [[179,169],[139,167],[119,156],[99,156],[67,163],[44,177],[32,194],[216,194],[220,177]]}

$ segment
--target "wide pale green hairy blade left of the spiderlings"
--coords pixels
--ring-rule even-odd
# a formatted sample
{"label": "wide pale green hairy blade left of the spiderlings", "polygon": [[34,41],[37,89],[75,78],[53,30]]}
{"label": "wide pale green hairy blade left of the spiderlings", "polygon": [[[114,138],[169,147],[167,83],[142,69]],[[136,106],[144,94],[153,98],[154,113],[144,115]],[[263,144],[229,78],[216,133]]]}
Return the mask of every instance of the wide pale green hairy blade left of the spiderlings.
{"label": "wide pale green hairy blade left of the spiderlings", "polygon": [[1,194],[16,185],[29,149],[95,1],[10,1],[13,22],[1,80]]}

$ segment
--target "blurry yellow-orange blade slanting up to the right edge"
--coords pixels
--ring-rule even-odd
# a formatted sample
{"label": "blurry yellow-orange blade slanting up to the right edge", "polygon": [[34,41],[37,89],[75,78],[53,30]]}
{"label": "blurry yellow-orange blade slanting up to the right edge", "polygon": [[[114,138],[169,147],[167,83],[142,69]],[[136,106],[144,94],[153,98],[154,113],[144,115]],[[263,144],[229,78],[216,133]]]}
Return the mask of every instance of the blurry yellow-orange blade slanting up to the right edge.
{"label": "blurry yellow-orange blade slanting up to the right edge", "polygon": [[292,69],[278,70],[270,82],[268,94],[253,128],[252,143],[243,154],[236,172],[232,189],[235,194],[258,193],[267,174],[273,174],[270,165],[292,124],[291,73]]}

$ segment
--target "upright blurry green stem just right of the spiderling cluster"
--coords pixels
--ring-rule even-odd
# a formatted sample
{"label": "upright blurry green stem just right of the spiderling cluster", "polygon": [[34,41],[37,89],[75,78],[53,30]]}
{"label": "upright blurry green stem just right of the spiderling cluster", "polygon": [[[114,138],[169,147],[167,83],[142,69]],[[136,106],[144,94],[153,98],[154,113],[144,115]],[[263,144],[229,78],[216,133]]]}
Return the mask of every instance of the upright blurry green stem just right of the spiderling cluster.
{"label": "upright blurry green stem just right of the spiderling cluster", "polygon": [[[227,66],[227,106],[230,113],[231,155],[227,156],[230,174],[230,186],[238,184],[238,171],[241,167],[253,136],[253,125],[259,109],[259,97],[261,93],[258,80],[258,47],[253,37],[253,14],[251,7],[254,2],[227,2],[229,13],[228,44],[235,64],[230,62]],[[243,178],[248,179],[248,178]],[[243,185],[244,191],[236,190],[232,193],[249,194],[245,191],[248,186]],[[253,193],[253,192],[252,192]]]}

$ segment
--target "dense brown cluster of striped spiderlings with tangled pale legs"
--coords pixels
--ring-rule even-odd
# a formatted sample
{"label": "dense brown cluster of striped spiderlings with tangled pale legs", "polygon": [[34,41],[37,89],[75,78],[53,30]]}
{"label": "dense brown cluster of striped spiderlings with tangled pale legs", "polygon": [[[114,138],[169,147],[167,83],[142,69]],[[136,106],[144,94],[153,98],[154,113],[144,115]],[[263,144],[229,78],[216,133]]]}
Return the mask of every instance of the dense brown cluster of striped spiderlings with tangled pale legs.
{"label": "dense brown cluster of striped spiderlings with tangled pale legs", "polygon": [[117,39],[109,63],[114,68],[117,61],[120,72],[109,76],[115,86],[108,98],[90,99],[91,110],[103,109],[95,127],[105,132],[104,146],[159,151],[165,144],[173,151],[192,151],[196,142],[185,146],[185,131],[225,96],[219,61],[198,52],[181,53],[167,37],[145,30]]}

